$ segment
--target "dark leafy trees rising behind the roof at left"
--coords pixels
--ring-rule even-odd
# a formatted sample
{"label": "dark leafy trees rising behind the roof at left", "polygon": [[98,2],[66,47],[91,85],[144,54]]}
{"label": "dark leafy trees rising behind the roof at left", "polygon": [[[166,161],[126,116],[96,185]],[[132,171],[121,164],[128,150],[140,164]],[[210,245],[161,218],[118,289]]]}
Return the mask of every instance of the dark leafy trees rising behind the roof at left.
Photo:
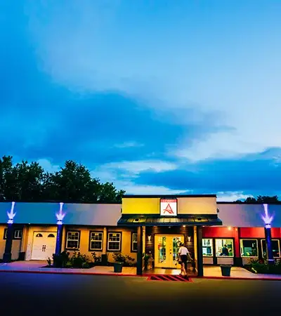
{"label": "dark leafy trees rising behind the roof at left", "polygon": [[13,164],[11,156],[0,158],[0,202],[120,203],[124,193],[72,160],[50,173],[37,162]]}

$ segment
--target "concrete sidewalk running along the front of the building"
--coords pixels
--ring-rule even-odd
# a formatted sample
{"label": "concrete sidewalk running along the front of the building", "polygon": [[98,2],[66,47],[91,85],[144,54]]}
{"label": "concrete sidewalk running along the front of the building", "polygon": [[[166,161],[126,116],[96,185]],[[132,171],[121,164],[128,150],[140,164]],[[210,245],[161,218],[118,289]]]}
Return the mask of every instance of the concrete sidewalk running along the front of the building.
{"label": "concrete sidewalk running along the front of the building", "polygon": [[[0,272],[33,272],[33,273],[58,273],[58,274],[78,274],[78,275],[121,275],[135,276],[136,268],[124,267],[122,273],[116,273],[113,267],[96,266],[90,269],[70,269],[70,268],[43,268],[46,266],[45,261],[14,261],[13,263],[0,263]],[[179,270],[171,270],[171,275],[179,274]],[[160,272],[157,272],[159,274]],[[164,272],[162,273],[164,274]],[[145,273],[143,277],[148,277],[150,273]],[[196,276],[190,275],[191,278]],[[265,280],[280,280],[281,275],[263,275],[254,274],[240,267],[231,268],[230,277],[221,276],[221,268],[214,265],[204,266],[204,278],[206,279],[265,279]]]}

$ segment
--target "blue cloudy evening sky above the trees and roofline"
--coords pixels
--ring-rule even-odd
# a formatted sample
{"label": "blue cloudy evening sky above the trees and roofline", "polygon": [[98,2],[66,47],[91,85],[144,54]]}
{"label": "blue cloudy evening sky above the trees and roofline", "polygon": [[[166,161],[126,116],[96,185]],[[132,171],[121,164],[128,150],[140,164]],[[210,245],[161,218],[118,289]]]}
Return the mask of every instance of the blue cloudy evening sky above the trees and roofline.
{"label": "blue cloudy evening sky above the trees and roofline", "polygon": [[280,195],[280,1],[2,2],[0,154],[130,194]]}

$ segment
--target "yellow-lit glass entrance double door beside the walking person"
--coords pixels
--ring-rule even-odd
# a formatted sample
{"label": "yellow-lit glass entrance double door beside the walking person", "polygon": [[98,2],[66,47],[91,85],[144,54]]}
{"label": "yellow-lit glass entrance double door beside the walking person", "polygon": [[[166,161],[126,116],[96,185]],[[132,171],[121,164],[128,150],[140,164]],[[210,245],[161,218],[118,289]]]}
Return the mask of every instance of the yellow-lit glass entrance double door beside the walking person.
{"label": "yellow-lit glass entrance double door beside the walking person", "polygon": [[178,249],[183,235],[155,235],[155,268],[180,268]]}

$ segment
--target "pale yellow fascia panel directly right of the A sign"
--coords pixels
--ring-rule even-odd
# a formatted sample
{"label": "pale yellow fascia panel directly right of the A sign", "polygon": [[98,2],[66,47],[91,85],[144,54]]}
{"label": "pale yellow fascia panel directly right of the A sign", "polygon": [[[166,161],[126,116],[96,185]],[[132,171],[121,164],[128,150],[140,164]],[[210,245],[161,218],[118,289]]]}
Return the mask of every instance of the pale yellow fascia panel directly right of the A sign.
{"label": "pale yellow fascia panel directly right of the A sign", "polygon": [[216,197],[178,197],[178,214],[216,214]]}

